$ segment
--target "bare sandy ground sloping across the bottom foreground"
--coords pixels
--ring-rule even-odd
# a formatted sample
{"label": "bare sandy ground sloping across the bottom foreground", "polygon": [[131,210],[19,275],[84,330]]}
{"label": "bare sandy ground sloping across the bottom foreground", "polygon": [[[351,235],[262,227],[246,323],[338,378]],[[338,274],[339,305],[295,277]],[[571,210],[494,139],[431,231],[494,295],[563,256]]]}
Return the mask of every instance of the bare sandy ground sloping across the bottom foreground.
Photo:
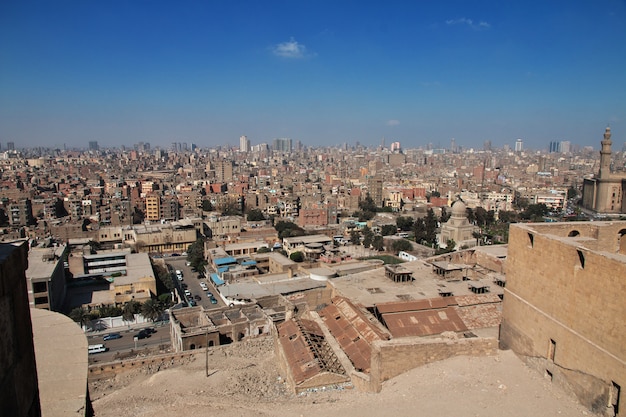
{"label": "bare sandy ground sloping across the bottom foreground", "polygon": [[594,415],[512,352],[458,357],[402,374],[381,393],[334,389],[294,395],[270,339],[236,343],[170,369],[90,384],[97,417],[175,416],[581,416]]}

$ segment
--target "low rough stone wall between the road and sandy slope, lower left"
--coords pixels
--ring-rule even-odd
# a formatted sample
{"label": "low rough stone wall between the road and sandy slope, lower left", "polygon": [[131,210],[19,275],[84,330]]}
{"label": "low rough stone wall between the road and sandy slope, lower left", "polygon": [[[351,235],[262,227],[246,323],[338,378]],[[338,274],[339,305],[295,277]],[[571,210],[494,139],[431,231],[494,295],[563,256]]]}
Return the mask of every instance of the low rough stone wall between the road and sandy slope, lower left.
{"label": "low rough stone wall between the road and sandy slope, lower left", "polygon": [[195,360],[195,355],[204,354],[204,351],[164,353],[144,358],[127,359],[89,366],[88,380],[96,381],[115,377],[118,374],[147,368],[148,371],[158,372],[161,369],[182,365]]}

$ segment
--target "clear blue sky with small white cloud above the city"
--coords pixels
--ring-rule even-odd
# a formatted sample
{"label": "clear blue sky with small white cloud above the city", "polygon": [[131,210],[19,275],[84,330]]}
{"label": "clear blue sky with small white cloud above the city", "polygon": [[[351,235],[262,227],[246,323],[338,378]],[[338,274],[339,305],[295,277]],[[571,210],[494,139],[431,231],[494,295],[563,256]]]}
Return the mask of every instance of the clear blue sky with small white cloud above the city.
{"label": "clear blue sky with small white cloud above the city", "polygon": [[[0,2],[0,144],[626,141],[626,2]],[[615,147],[615,146],[614,146]]]}

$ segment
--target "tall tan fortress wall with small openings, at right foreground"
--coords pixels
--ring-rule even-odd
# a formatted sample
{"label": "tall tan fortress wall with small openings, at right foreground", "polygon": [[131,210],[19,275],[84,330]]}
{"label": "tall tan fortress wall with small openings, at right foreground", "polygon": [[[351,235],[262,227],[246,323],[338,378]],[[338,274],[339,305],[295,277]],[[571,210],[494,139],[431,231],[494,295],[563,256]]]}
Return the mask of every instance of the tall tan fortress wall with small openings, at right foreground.
{"label": "tall tan fortress wall with small openings, at right foreground", "polygon": [[626,222],[512,224],[501,346],[593,411],[626,415],[625,279]]}

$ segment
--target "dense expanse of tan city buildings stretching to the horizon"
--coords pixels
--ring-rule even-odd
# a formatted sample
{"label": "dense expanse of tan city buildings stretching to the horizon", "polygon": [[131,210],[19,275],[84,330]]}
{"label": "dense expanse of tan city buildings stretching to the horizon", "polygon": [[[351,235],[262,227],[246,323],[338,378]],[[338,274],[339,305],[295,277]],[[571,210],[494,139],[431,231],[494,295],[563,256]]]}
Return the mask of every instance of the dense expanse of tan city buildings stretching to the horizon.
{"label": "dense expanse of tan city buildings stretching to the horizon", "polygon": [[[212,149],[185,143],[114,149],[94,141],[83,150],[15,149],[9,143],[0,159],[2,241],[28,242],[31,309],[65,314],[86,332],[91,395],[103,379],[134,369],[137,358],[177,363],[186,352],[254,347],[272,337],[286,384],[274,387],[273,396],[321,387],[378,392],[382,381],[422,362],[416,358],[423,342],[414,345],[407,336],[435,340],[439,360],[466,354],[462,340],[453,353],[437,347],[437,337],[456,340],[455,334],[476,338],[472,355],[493,355],[499,340],[523,357],[519,335],[511,333],[517,326],[506,324],[518,313],[503,310],[507,291],[515,291],[507,282],[520,271],[510,265],[522,256],[511,253],[512,225],[529,224],[543,236],[541,224],[553,224],[557,229],[548,233],[567,232],[575,245],[581,230],[594,228],[581,226],[590,221],[601,228],[590,236],[621,227],[623,256],[623,223],[601,226],[626,216],[626,152],[613,152],[611,137],[607,127],[602,152],[569,142],[529,151],[521,139],[502,149],[486,142],[480,150],[454,141],[424,149],[384,140],[376,148],[310,148],[286,138],[252,145],[246,136],[239,147]],[[611,184],[618,187],[612,197],[605,191]],[[355,292],[352,280],[367,281],[367,291]],[[436,307],[438,300],[447,302]],[[414,324],[406,327],[398,314]],[[334,316],[345,320],[341,329],[328,321]],[[434,327],[418,324],[424,318]],[[34,326],[37,335],[37,321]],[[332,336],[322,336],[320,326]],[[363,342],[346,344],[346,331]],[[299,338],[305,345],[292,346]],[[415,351],[399,368],[393,361],[374,368],[375,342],[389,339],[410,340]],[[80,352],[80,345],[70,349]],[[336,349],[349,361],[340,361]],[[298,370],[302,355],[313,355],[308,376]],[[327,376],[318,381],[320,372]],[[568,386],[576,379],[566,380]],[[606,401],[617,416],[620,385],[612,384]],[[50,394],[40,389],[45,402]],[[575,391],[598,412],[588,404],[592,392]]]}

